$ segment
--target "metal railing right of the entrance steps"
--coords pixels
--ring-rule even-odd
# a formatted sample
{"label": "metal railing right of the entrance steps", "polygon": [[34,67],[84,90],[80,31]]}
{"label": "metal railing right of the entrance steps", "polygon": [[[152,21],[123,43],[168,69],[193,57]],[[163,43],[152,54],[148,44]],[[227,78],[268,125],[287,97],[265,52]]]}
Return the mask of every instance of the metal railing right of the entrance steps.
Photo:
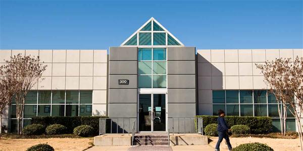
{"label": "metal railing right of the entrance steps", "polygon": [[[199,133],[203,135],[203,118],[168,118],[174,133]],[[168,127],[170,128],[170,127]],[[168,129],[169,130],[169,129]]]}

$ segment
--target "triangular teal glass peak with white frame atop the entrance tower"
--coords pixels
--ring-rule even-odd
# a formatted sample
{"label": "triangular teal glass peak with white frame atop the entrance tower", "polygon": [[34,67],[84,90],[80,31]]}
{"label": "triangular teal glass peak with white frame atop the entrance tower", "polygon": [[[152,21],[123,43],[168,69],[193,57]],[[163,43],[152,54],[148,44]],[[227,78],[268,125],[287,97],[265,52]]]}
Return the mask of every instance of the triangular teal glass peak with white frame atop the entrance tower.
{"label": "triangular teal glass peak with white frame atop the entrance tower", "polygon": [[127,38],[121,46],[184,46],[153,17]]}

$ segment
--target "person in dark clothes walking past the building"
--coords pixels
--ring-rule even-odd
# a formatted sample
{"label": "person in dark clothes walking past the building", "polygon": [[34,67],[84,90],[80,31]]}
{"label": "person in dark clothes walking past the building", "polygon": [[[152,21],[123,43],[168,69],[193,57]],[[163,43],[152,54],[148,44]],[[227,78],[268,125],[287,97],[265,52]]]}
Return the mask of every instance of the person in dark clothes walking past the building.
{"label": "person in dark clothes walking past the building", "polygon": [[232,146],[229,142],[229,137],[228,137],[228,126],[227,126],[227,123],[224,119],[224,116],[225,116],[225,113],[223,110],[218,110],[218,119],[217,119],[217,122],[218,122],[218,134],[219,134],[219,139],[218,139],[218,142],[217,142],[217,145],[216,145],[216,149],[215,151],[220,151],[220,143],[222,142],[223,138],[226,140],[226,144],[228,146],[228,149],[229,150],[232,150]]}

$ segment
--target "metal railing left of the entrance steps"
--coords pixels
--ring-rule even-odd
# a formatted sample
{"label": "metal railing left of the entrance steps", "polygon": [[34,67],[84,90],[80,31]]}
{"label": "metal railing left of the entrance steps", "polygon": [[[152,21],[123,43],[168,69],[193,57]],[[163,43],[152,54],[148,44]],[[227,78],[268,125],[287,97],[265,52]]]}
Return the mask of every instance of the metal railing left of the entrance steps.
{"label": "metal railing left of the entrance steps", "polygon": [[99,135],[106,133],[128,133],[135,132],[135,125],[131,129],[132,120],[135,123],[137,118],[99,118]]}

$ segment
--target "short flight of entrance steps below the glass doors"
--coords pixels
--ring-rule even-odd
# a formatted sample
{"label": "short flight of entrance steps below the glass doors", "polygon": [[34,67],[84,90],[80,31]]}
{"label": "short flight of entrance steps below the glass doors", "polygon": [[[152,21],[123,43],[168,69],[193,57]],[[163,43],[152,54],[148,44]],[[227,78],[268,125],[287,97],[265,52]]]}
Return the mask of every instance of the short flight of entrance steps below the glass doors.
{"label": "short flight of entrance steps below the glass doors", "polygon": [[165,134],[135,135],[134,145],[169,145],[168,136]]}

